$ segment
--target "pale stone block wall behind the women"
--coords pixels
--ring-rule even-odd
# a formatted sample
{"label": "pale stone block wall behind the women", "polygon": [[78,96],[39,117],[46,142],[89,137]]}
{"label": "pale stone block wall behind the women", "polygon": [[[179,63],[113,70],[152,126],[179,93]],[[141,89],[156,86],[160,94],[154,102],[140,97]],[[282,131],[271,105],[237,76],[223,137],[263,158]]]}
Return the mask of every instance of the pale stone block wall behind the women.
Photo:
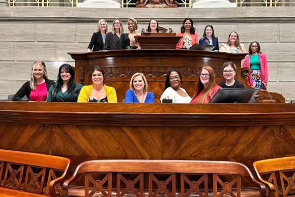
{"label": "pale stone block wall behind the women", "polygon": [[212,24],[220,43],[236,31],[248,48],[261,43],[269,65],[268,90],[295,99],[295,18],[292,7],[236,8],[71,8],[0,7],[0,99],[7,99],[29,80],[30,66],[36,60],[47,65],[48,76],[56,80],[63,63],[75,66],[67,52],[86,52],[97,21],[104,18],[110,29],[121,18],[128,32],[127,19],[139,23],[138,32],[147,29],[154,18],[161,27],[180,31],[186,17],[194,20],[200,38]]}

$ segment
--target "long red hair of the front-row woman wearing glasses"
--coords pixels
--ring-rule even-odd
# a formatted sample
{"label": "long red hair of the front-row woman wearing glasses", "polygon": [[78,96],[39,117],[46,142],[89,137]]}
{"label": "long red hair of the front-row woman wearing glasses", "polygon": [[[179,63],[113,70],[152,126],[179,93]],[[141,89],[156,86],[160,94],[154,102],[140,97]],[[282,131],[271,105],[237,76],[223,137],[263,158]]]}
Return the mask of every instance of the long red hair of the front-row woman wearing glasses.
{"label": "long red hair of the front-row woman wearing glasses", "polygon": [[202,67],[201,72],[202,72],[203,69],[206,69],[209,72],[210,79],[209,79],[207,87],[205,88],[204,84],[201,82],[201,77],[199,77],[198,84],[197,84],[197,87],[196,87],[196,92],[195,92],[195,95],[194,95],[194,97],[192,99],[195,99],[197,97],[197,95],[203,89],[204,89],[204,92],[203,92],[202,96],[199,99],[196,100],[196,103],[199,103],[199,102],[207,103],[208,102],[207,97],[209,96],[210,98],[212,98],[212,90],[213,90],[213,87],[216,85],[216,83],[215,83],[215,73],[214,73],[213,68],[211,68],[210,66],[204,66],[204,67]]}

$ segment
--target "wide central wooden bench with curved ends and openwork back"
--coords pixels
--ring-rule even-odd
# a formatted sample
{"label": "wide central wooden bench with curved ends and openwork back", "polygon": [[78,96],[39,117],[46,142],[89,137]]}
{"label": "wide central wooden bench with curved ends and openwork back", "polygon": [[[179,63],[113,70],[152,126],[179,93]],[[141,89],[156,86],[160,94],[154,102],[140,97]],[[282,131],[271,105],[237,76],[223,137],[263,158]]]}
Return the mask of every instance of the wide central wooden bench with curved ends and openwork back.
{"label": "wide central wooden bench with curved ends and openwork back", "polygon": [[[113,172],[115,172],[113,174]],[[148,181],[144,183],[144,174]],[[179,180],[180,184],[176,181]],[[68,197],[68,187],[81,175],[85,178],[85,197],[93,195],[112,196],[112,178],[117,176],[117,197],[130,195],[144,197],[144,185],[148,188],[148,197],[164,195],[176,197],[176,185],[180,186],[181,197],[191,194],[208,197],[208,174],[213,174],[213,196],[241,196],[241,176],[248,177],[260,189],[260,197],[266,196],[266,186],[253,177],[244,164],[219,161],[181,161],[181,160],[93,160],[77,166],[73,176],[63,183],[62,193]],[[224,175],[233,175],[232,181],[224,182]],[[95,176],[100,175],[96,180]],[[132,175],[132,178],[130,178]],[[193,176],[197,177],[193,177]],[[128,178],[129,176],[129,178]],[[80,180],[80,179],[79,179]],[[81,181],[81,180],[80,180]],[[222,191],[217,190],[220,184]],[[186,190],[185,190],[185,185]],[[204,186],[203,190],[199,186]],[[232,190],[236,185],[236,191]],[[188,188],[188,190],[187,190]],[[234,194],[236,193],[236,195]],[[116,195],[115,195],[116,196]]]}

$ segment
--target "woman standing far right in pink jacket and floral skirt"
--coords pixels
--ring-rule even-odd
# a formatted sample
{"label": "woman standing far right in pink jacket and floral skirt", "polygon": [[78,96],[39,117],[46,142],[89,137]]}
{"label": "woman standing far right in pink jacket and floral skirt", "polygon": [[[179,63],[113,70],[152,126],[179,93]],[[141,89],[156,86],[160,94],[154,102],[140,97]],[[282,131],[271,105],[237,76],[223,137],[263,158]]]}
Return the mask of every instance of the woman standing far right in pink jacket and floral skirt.
{"label": "woman standing far right in pink jacket and floral skirt", "polygon": [[268,81],[267,58],[266,54],[260,51],[259,42],[254,41],[249,45],[249,54],[245,57],[244,66],[251,70],[251,75],[247,78],[248,84],[257,89],[266,89]]}

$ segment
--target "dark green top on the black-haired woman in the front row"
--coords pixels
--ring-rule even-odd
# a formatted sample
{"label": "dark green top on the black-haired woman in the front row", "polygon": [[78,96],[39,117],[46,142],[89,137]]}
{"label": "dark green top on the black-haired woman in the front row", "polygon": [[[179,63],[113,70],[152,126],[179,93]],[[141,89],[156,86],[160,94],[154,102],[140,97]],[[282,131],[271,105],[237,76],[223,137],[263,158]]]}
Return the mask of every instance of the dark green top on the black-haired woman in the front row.
{"label": "dark green top on the black-haired woman in the front row", "polygon": [[62,91],[60,90],[54,99],[52,93],[55,87],[57,87],[57,83],[55,83],[50,86],[46,101],[47,102],[77,102],[82,86],[83,86],[82,84],[76,83],[76,87],[75,87],[75,93],[77,94],[76,97],[74,97],[73,95],[70,96],[68,90],[66,90],[64,93],[62,93]]}

